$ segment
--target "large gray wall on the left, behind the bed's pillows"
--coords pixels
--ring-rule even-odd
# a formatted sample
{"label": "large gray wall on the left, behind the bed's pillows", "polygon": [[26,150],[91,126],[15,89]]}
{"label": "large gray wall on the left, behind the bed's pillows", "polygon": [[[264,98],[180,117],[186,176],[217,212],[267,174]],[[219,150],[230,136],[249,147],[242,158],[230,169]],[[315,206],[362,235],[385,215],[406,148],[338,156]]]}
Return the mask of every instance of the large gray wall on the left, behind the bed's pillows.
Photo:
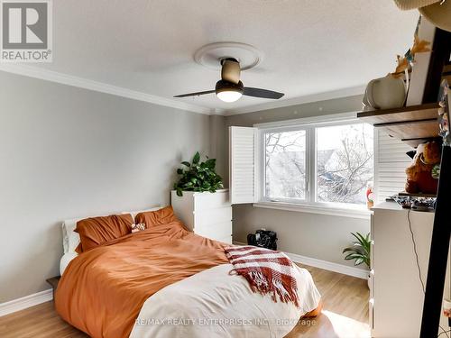
{"label": "large gray wall on the left, behind the bed's pillows", "polygon": [[0,88],[0,303],[50,288],[62,220],[168,204],[179,161],[209,151],[207,115],[5,72]]}

